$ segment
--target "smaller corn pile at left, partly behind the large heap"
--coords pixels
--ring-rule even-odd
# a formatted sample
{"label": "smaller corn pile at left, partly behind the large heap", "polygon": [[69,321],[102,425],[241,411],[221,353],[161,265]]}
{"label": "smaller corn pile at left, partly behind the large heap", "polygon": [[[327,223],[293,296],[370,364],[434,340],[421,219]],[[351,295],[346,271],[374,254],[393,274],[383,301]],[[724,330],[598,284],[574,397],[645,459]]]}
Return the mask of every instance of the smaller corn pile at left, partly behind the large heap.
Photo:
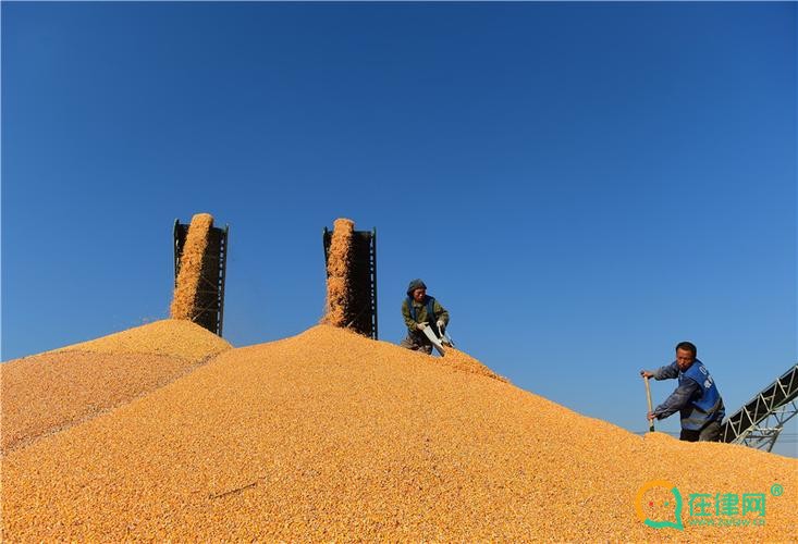
{"label": "smaller corn pile at left, partly behind the large heap", "polygon": [[164,320],[0,364],[2,453],[130,403],[230,347],[199,325]]}

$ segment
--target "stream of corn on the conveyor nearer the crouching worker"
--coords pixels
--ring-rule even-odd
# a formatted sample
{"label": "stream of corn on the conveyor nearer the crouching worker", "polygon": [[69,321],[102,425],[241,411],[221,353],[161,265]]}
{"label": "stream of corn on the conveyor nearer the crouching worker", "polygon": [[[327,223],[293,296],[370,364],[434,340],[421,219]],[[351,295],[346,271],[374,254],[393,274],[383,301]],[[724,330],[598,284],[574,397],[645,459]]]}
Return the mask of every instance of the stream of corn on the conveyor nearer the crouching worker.
{"label": "stream of corn on the conveyor nearer the crouching worker", "polygon": [[349,300],[349,260],[355,223],[336,219],[327,257],[327,314],[322,320],[333,326],[346,326]]}

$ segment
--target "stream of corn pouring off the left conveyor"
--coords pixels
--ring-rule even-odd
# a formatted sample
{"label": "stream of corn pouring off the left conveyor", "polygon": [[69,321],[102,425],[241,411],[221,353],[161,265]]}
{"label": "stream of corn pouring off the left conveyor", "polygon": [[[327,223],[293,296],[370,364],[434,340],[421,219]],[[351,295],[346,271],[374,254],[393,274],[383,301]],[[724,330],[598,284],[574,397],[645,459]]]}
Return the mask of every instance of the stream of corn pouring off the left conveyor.
{"label": "stream of corn pouring off the left conveyor", "polygon": [[192,218],[183,245],[183,254],[180,257],[177,285],[172,298],[172,319],[193,321],[197,316],[197,292],[202,277],[202,261],[212,226],[213,218],[209,213],[197,213]]}

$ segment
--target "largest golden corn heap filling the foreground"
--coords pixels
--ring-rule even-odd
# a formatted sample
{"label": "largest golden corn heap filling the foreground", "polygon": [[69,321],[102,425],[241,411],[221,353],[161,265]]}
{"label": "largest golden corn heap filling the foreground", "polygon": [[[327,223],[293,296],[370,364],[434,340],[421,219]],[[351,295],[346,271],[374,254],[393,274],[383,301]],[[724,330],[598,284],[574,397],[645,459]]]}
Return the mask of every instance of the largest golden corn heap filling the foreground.
{"label": "largest golden corn heap filling the foreground", "polygon": [[[7,455],[3,535],[798,537],[798,461],[658,433],[643,438],[469,368],[329,325],[225,350],[164,387]],[[762,493],[766,512],[757,519],[766,523],[652,529],[635,507],[652,480],[678,487],[685,519],[690,494]],[[770,491],[776,483],[778,496]],[[638,503],[651,519],[667,520],[660,503],[668,497],[651,489]]]}

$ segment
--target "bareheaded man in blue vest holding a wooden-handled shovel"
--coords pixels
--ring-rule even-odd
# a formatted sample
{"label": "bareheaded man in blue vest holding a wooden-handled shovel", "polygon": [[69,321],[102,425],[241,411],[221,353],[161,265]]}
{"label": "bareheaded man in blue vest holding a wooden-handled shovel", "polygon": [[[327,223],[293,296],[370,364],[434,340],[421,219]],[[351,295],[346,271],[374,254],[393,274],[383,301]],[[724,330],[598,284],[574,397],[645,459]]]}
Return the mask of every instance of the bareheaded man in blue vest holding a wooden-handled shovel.
{"label": "bareheaded man in blue vest holding a wooden-handled shovel", "polygon": [[648,419],[665,419],[677,411],[682,416],[682,435],[686,442],[719,442],[721,421],[725,416],[723,399],[707,367],[696,359],[695,344],[679,342],[676,360],[654,371],[641,370],[643,378],[670,380],[677,378],[678,387],[653,411]]}

